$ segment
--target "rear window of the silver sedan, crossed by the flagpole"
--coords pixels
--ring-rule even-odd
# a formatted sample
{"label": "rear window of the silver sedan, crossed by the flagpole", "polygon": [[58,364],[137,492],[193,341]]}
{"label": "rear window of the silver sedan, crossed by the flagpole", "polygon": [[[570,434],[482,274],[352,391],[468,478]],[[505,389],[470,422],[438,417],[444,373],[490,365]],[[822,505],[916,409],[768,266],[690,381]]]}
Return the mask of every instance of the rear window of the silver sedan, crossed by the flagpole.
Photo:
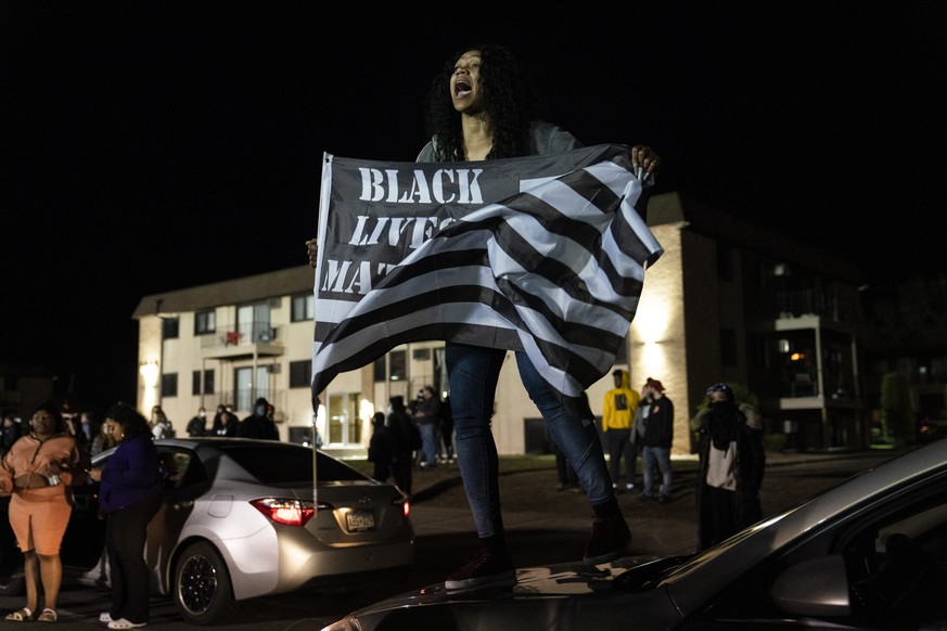
{"label": "rear window of the silver sedan, crossed by the flagpole", "polygon": [[[226,445],[221,450],[265,484],[282,485],[312,480],[312,451],[305,447],[287,449],[285,445]],[[319,453],[317,479],[320,484],[364,480],[358,471]]]}

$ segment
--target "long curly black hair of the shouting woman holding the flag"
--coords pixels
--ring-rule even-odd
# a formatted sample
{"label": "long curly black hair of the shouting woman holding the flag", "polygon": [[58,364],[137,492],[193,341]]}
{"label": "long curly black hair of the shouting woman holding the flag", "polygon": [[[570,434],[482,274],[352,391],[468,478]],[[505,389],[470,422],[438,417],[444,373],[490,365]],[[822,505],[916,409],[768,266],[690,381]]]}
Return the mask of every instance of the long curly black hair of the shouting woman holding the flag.
{"label": "long curly black hair of the shouting woman holding the flag", "polygon": [[481,105],[488,114],[494,146],[487,159],[517,157],[529,153],[529,124],[539,114],[539,96],[513,52],[498,43],[460,49],[434,77],[426,99],[428,138],[436,138],[438,162],[464,160],[460,114],[450,98],[453,65],[472,50],[481,52]]}

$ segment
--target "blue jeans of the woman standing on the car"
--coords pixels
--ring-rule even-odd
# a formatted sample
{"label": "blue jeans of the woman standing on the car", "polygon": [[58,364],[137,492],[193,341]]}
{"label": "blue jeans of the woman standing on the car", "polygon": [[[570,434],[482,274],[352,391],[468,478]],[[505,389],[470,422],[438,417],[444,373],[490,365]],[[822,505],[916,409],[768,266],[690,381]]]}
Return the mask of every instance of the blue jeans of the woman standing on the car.
{"label": "blue jeans of the woman standing on the car", "polygon": [[[502,349],[452,343],[446,350],[457,460],[481,538],[503,533],[500,465],[490,417],[506,355]],[[589,502],[600,504],[614,498],[594,422],[568,415],[525,352],[516,353],[516,365],[523,386],[542,414],[550,436],[572,463]]]}

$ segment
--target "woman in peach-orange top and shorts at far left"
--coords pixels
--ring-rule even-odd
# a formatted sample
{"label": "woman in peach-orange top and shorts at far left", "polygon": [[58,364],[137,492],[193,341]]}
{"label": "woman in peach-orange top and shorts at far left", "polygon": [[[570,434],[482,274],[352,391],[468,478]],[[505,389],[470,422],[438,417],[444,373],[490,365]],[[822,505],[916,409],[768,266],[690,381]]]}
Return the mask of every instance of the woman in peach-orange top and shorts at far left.
{"label": "woman in peach-orange top and shorts at far left", "polygon": [[33,432],[22,436],[0,463],[0,492],[11,494],[10,526],[23,552],[26,606],[7,620],[33,620],[39,606],[40,622],[56,621],[56,600],[63,580],[60,545],[73,506],[66,489],[80,471],[81,452],[56,405],[43,403],[33,414]]}

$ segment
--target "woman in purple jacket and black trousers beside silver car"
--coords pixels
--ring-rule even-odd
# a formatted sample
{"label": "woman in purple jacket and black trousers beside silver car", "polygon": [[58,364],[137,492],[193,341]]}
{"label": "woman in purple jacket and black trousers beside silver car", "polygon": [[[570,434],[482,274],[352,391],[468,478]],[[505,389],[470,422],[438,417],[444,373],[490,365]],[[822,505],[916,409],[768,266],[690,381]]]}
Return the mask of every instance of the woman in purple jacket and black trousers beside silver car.
{"label": "woman in purple jacket and black trousers beside silver car", "polygon": [[149,622],[150,576],[144,562],[148,523],[158,512],[164,488],[157,449],[148,420],[117,403],[105,415],[118,448],[104,468],[89,476],[101,481],[99,510],[105,515],[105,550],[112,606],[99,620],[110,629],[135,629]]}

